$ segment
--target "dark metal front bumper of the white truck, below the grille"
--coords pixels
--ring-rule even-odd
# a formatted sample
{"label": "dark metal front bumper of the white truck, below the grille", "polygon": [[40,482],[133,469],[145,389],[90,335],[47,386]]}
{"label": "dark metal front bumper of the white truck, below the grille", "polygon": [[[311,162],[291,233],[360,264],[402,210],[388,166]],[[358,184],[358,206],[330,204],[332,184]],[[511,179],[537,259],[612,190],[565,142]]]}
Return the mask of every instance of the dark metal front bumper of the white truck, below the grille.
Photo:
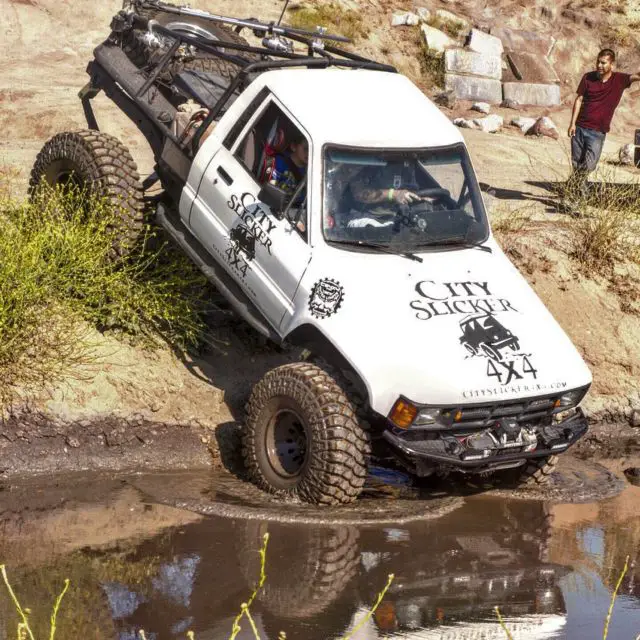
{"label": "dark metal front bumper of the white truck, below the grille", "polygon": [[402,457],[415,464],[418,472],[426,464],[428,468],[445,465],[459,471],[476,473],[516,466],[529,458],[562,453],[577,442],[588,428],[584,413],[577,409],[574,415],[562,422],[535,427],[537,444],[531,451],[525,451],[526,447],[514,447],[513,444],[476,450],[465,446],[460,438],[446,431],[440,432],[432,440],[411,440],[407,438],[410,430],[400,432],[398,429],[387,429],[383,436]]}

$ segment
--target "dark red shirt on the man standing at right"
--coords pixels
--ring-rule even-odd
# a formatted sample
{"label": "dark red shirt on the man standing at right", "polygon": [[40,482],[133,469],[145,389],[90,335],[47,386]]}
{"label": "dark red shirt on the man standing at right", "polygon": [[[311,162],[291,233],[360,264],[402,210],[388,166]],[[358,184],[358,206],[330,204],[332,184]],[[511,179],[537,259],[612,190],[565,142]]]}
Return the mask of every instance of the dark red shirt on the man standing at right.
{"label": "dark red shirt on the man standing at right", "polygon": [[578,85],[578,95],[583,97],[576,125],[583,129],[595,129],[608,133],[613,112],[620,103],[624,90],[631,86],[628,73],[613,72],[602,82],[596,71],[585,73]]}

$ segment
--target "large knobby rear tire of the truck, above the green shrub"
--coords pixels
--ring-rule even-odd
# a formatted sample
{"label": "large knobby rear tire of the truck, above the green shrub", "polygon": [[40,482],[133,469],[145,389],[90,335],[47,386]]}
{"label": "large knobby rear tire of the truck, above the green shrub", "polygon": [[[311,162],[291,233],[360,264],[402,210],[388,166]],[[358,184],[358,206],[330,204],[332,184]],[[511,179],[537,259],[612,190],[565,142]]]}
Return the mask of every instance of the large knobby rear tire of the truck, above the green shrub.
{"label": "large knobby rear tire of the truck, above the green shrub", "polygon": [[73,185],[104,199],[119,220],[114,252],[120,256],[129,253],[144,225],[143,192],[136,163],[117,138],[90,130],[53,136],[31,170],[32,198],[43,184],[52,188]]}

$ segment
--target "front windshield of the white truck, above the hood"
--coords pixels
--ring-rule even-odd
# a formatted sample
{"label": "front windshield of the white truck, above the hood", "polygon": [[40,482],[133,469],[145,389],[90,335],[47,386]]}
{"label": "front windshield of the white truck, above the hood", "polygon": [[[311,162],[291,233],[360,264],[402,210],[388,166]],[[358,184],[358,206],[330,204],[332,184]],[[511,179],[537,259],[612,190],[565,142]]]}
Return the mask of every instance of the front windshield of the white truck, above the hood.
{"label": "front windshield of the white truck, above the hood", "polygon": [[489,227],[463,145],[416,151],[328,147],[324,236],[412,251],[473,244]]}

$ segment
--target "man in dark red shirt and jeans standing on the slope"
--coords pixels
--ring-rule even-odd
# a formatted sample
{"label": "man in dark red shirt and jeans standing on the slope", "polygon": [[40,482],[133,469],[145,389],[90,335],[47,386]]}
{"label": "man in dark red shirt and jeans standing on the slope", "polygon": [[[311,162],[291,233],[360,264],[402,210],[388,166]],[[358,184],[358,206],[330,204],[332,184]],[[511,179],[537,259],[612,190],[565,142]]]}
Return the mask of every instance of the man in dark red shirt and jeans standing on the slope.
{"label": "man in dark red shirt and jeans standing on the slope", "polygon": [[598,165],[620,98],[632,82],[640,80],[640,74],[615,71],[615,62],[616,54],[611,49],[600,51],[596,71],[582,77],[573,103],[568,131],[573,174],[569,182],[583,196],[587,195],[587,177]]}

